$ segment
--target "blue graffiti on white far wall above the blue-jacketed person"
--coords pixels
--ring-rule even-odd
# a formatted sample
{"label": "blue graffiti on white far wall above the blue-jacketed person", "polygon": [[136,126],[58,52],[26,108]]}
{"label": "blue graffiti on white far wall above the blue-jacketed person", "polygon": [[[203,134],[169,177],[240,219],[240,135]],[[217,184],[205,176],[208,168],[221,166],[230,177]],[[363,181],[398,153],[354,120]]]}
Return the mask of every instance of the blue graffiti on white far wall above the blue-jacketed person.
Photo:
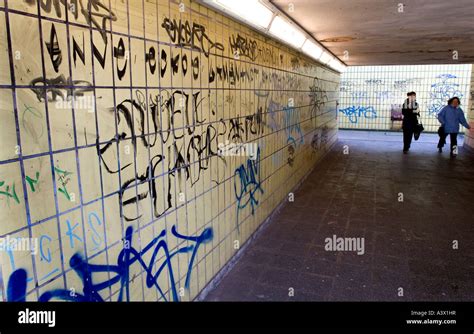
{"label": "blue graffiti on white far wall above the blue-jacketed person", "polygon": [[459,90],[459,84],[452,82],[451,80],[457,78],[455,75],[441,74],[436,78],[440,80],[439,82],[431,85],[431,102],[428,108],[428,114],[432,116],[437,116],[441,108],[443,108],[447,104],[448,100],[453,96],[457,96],[459,98],[463,97],[463,94]]}

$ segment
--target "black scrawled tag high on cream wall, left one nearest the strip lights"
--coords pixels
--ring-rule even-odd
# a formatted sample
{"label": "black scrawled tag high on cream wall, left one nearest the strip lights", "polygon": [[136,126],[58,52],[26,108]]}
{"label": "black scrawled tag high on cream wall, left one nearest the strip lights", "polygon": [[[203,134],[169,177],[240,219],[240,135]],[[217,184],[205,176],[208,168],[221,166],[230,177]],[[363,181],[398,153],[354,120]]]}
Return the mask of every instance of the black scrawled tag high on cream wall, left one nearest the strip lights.
{"label": "black scrawled tag high on cream wall, left one nearest the strip lights", "polygon": [[171,42],[201,51],[206,57],[209,57],[213,49],[224,51],[224,46],[211,41],[206,28],[195,22],[191,25],[187,20],[183,23],[181,20],[178,22],[176,19],[165,18],[161,26],[166,30]]}

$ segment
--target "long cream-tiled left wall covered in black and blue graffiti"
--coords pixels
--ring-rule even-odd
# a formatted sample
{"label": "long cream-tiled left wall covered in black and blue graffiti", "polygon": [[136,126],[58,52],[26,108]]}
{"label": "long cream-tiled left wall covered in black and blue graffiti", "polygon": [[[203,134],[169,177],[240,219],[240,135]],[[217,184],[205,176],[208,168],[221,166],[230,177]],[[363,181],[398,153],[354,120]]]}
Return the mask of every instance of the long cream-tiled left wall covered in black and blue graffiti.
{"label": "long cream-tiled left wall covered in black and blue graffiti", "polygon": [[194,2],[43,2],[0,0],[0,299],[195,298],[336,140],[339,74]]}

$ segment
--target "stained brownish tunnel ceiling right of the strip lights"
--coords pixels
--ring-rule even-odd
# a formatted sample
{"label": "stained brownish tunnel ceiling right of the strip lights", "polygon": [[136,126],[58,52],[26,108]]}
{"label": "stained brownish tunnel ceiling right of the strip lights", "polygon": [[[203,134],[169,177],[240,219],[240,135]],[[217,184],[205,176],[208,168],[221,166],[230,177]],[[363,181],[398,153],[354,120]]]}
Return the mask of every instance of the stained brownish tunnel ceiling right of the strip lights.
{"label": "stained brownish tunnel ceiling right of the strip lights", "polygon": [[271,2],[347,65],[474,63],[474,0]]}

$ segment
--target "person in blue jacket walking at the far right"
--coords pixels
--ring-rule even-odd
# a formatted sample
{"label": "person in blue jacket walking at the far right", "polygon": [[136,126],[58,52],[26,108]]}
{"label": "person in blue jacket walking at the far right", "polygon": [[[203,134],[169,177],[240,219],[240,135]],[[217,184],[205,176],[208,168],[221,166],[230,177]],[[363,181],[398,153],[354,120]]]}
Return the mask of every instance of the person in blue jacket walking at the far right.
{"label": "person in blue jacket walking at the far right", "polygon": [[451,156],[456,156],[457,150],[457,137],[459,133],[459,124],[462,124],[466,129],[471,127],[464,117],[464,111],[459,107],[461,101],[458,97],[452,97],[448,100],[448,105],[441,109],[438,113],[438,121],[441,123],[441,127],[438,130],[439,142],[438,151],[443,152],[443,146],[446,143],[446,137],[450,136],[451,140]]}

